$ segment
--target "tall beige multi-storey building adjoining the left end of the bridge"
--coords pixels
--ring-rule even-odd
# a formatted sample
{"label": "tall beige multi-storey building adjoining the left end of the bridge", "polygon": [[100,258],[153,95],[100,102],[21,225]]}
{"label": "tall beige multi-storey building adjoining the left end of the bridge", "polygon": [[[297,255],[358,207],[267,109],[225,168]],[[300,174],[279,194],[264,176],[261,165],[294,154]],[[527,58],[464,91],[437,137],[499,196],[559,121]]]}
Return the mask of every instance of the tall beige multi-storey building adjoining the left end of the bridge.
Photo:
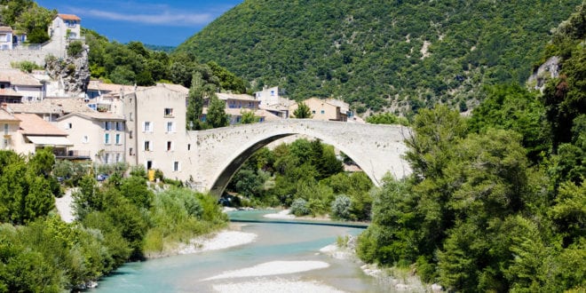
{"label": "tall beige multi-storey building adjoining the left end of the bridge", "polygon": [[192,160],[187,156],[188,92],[181,85],[159,83],[124,94],[126,162],[162,170],[167,178],[188,177],[183,171]]}

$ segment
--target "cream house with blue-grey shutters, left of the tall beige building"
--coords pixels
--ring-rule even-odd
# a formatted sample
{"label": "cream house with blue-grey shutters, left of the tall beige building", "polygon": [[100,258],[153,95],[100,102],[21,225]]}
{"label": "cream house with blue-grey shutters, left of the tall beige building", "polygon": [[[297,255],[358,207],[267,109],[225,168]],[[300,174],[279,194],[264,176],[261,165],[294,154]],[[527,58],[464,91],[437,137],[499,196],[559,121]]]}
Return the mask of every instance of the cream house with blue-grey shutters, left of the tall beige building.
{"label": "cream house with blue-grey shutters, left of the tall beige building", "polygon": [[56,122],[74,144],[69,148],[70,154],[99,163],[126,161],[123,115],[96,111],[73,112],[57,118]]}

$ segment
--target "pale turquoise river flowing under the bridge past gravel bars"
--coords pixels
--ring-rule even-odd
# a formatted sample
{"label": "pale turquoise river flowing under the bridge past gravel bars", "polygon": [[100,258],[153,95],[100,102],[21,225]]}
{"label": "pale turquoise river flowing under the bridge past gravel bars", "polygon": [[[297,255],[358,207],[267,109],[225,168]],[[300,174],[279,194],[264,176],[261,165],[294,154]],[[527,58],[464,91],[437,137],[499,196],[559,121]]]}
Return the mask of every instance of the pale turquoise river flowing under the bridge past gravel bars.
{"label": "pale turquoise river flowing under the bridge past gravel bars", "polygon": [[[237,211],[231,212],[230,217],[257,220],[267,212]],[[270,284],[275,281],[287,283],[289,292],[307,292],[303,284],[318,284],[331,292],[389,291],[388,285],[384,286],[363,273],[358,262],[320,252],[320,249],[336,243],[337,236],[357,235],[363,228],[294,223],[242,225],[242,232],[257,234],[255,242],[229,249],[129,263],[100,280],[99,287],[91,292],[230,292],[243,291],[246,287],[242,286],[251,282],[266,284],[265,291],[268,292]],[[264,275],[226,276],[226,272],[258,268],[259,265],[280,264],[290,268],[299,263],[317,264],[318,267],[297,273],[278,274],[273,270]],[[268,275],[270,273],[275,274]]]}

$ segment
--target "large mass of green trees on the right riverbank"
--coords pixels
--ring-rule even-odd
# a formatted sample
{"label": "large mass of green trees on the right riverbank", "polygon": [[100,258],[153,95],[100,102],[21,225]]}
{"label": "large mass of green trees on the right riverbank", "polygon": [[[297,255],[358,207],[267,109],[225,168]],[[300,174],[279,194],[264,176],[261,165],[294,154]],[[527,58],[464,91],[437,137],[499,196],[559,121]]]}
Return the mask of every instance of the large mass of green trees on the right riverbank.
{"label": "large mass of green trees on the right riverbank", "polygon": [[583,9],[548,44],[543,59],[562,67],[542,94],[496,85],[470,119],[443,106],[416,115],[413,174],[374,194],[360,258],[415,264],[448,291],[586,288]]}

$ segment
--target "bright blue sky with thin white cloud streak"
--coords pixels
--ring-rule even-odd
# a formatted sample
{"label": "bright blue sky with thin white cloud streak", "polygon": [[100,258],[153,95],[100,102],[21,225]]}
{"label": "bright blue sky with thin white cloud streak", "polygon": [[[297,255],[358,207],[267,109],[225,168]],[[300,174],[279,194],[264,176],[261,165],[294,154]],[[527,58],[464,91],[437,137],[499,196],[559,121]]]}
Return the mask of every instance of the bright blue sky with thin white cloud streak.
{"label": "bright blue sky with thin white cloud streak", "polygon": [[110,41],[176,46],[242,1],[37,0],[36,3],[57,9],[59,13],[79,16],[83,28],[93,29]]}

